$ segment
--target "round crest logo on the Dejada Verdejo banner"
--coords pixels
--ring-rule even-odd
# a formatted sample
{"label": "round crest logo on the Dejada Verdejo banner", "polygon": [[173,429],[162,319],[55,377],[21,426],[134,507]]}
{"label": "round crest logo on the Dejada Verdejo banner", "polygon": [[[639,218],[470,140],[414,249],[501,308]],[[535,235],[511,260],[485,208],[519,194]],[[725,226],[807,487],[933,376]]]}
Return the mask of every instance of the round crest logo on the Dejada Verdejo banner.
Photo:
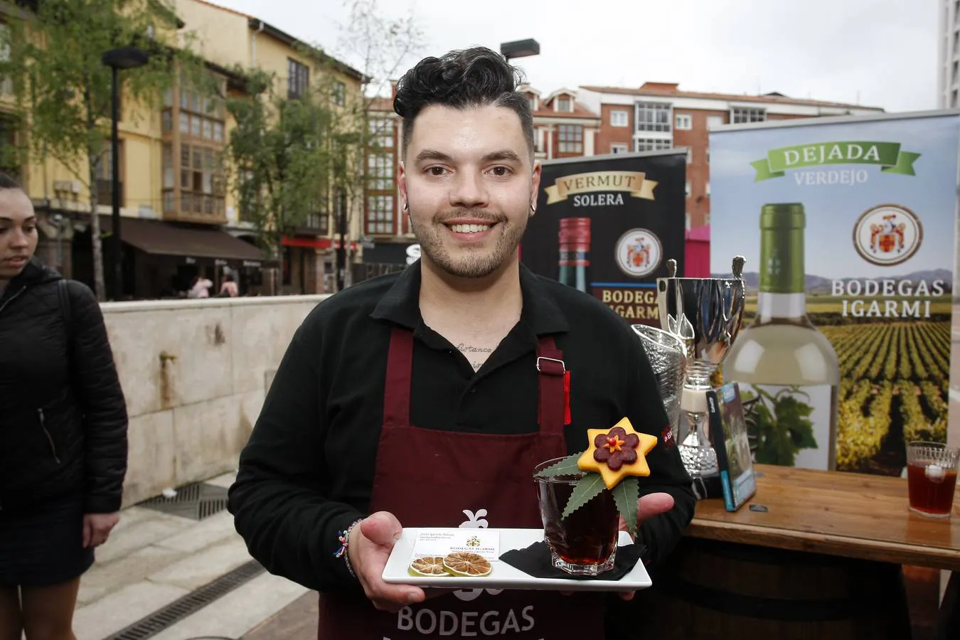
{"label": "round crest logo on the Dejada Verdejo banner", "polygon": [[881,204],[866,211],[853,227],[853,247],[867,262],[880,267],[899,265],[920,249],[924,226],[899,204]]}

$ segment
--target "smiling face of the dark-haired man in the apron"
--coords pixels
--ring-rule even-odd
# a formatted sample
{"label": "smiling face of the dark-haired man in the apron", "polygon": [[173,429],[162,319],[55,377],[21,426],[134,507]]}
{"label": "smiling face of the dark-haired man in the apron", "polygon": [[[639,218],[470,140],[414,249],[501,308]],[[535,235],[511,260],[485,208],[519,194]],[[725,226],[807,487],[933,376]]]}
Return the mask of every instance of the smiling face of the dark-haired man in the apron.
{"label": "smiling face of the dark-haired man in the apron", "polygon": [[481,278],[516,256],[540,165],[513,110],[433,105],[417,117],[398,181],[421,259]]}

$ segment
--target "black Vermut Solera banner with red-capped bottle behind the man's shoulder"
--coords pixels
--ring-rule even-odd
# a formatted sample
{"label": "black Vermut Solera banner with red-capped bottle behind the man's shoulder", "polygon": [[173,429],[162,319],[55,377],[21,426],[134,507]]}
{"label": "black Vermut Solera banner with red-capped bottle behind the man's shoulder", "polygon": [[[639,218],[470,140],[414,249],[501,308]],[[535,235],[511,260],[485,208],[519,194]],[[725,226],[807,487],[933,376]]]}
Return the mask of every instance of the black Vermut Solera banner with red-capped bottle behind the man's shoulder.
{"label": "black Vermut Solera banner with red-capped bottle behind the man's shoulder", "polygon": [[684,150],[544,161],[520,259],[659,327],[657,278],[670,258],[684,273],[685,183]]}

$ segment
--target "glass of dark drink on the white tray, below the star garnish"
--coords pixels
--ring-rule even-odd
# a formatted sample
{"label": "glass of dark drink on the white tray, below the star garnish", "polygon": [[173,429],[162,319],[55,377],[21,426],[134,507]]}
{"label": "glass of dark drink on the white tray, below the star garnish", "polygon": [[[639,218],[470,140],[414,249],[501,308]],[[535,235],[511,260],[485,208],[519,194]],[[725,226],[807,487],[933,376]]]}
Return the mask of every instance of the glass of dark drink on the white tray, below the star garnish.
{"label": "glass of dark drink on the white tray, below the star garnish", "polygon": [[540,476],[540,471],[562,458],[540,462],[534,471],[540,499],[543,537],[553,565],[573,576],[598,576],[613,568],[619,511],[606,488],[586,505],[562,517],[566,501],[584,474]]}

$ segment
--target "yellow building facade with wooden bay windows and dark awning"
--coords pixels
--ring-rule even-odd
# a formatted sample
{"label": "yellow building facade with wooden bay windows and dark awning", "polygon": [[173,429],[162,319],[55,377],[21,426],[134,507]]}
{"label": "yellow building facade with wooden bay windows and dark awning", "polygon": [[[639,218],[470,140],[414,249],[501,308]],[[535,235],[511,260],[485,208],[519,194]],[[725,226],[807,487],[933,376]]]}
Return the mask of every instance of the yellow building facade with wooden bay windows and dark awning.
{"label": "yellow building facade with wooden bay windows and dark awning", "polygon": [[[362,75],[336,60],[311,59],[298,40],[243,13],[203,0],[175,0],[181,43],[206,61],[206,71],[223,92],[242,95],[236,65],[276,74],[277,93],[287,95],[318,73],[333,69],[345,95],[361,90]],[[121,76],[123,71],[120,72]],[[293,78],[293,80],[291,80]],[[156,107],[122,101],[120,138],[121,237],[124,265],[122,297],[185,295],[192,282],[206,277],[219,291],[227,273],[248,294],[275,293],[263,268],[272,266],[253,246],[252,225],[242,221],[223,166],[230,118],[223,101],[178,83]],[[108,126],[108,121],[104,123]],[[24,147],[29,127],[18,125],[9,83],[0,83],[0,145]],[[83,165],[80,165],[83,166]],[[115,256],[109,240],[111,174],[109,152],[89,185],[55,158],[31,156],[22,166],[0,167],[24,184],[40,219],[38,255],[61,272],[92,286],[89,188],[98,194],[98,213],[108,282]],[[350,202],[350,209],[358,206]],[[348,211],[348,239],[359,237],[361,215]],[[318,211],[297,234],[284,241],[281,291],[324,293],[335,288],[335,231],[330,211]],[[350,245],[350,249],[356,249]],[[355,255],[348,251],[348,256]]]}

